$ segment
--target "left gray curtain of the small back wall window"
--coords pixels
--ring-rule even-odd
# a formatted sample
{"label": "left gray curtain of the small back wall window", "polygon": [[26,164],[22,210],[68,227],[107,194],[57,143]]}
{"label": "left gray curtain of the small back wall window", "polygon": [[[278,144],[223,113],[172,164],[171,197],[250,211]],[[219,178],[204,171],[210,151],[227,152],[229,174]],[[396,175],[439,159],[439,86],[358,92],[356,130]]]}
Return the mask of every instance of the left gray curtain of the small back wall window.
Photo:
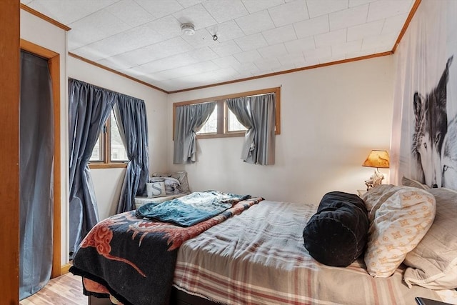
{"label": "left gray curtain of the small back wall window", "polygon": [[214,111],[216,102],[176,107],[174,128],[174,164],[196,161],[196,132],[204,126]]}

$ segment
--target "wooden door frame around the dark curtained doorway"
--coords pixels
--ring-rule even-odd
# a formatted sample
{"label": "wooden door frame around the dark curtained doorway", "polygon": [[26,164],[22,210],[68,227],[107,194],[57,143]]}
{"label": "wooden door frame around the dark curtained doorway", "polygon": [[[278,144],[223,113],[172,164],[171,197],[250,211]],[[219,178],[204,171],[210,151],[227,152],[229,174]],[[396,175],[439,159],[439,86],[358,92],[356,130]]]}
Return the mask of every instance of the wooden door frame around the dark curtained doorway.
{"label": "wooden door frame around the dark curtained doorway", "polygon": [[52,227],[51,278],[61,275],[61,134],[60,134],[60,54],[21,39],[21,50],[48,59],[54,112],[54,211]]}

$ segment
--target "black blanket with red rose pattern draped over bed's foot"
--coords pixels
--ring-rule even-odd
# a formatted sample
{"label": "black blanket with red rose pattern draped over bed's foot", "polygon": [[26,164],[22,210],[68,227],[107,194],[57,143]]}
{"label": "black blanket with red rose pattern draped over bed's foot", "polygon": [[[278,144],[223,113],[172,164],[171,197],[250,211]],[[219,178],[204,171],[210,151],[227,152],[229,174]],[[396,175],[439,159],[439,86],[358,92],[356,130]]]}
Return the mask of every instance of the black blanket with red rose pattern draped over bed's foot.
{"label": "black blanket with red rose pattern draped over bed's foot", "polygon": [[[111,216],[82,241],[70,271],[90,280],[83,281],[86,295],[111,294],[124,304],[168,304],[179,246],[261,200],[231,201],[233,207],[189,227],[139,219],[135,211]],[[98,291],[86,286],[94,282]]]}

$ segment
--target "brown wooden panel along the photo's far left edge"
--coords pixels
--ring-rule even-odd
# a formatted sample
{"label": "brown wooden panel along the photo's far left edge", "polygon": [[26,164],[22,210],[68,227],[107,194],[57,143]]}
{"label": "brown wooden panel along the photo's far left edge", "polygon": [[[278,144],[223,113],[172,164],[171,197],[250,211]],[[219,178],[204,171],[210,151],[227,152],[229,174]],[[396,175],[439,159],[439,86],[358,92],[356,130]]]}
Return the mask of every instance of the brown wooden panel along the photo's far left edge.
{"label": "brown wooden panel along the photo's far left edge", "polygon": [[19,303],[19,0],[0,9],[0,296]]}

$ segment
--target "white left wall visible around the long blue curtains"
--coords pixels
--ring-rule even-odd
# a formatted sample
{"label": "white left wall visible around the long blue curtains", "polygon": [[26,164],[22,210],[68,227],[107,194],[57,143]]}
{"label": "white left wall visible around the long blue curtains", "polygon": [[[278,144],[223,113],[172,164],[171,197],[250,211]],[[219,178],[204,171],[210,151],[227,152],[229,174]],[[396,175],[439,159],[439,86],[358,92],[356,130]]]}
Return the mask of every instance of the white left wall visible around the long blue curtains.
{"label": "white left wall visible around the long blue curtains", "polygon": [[[144,100],[148,118],[150,171],[166,171],[166,94],[74,57],[69,56],[67,61],[69,77]],[[100,219],[116,214],[124,174],[125,169],[91,169]]]}

